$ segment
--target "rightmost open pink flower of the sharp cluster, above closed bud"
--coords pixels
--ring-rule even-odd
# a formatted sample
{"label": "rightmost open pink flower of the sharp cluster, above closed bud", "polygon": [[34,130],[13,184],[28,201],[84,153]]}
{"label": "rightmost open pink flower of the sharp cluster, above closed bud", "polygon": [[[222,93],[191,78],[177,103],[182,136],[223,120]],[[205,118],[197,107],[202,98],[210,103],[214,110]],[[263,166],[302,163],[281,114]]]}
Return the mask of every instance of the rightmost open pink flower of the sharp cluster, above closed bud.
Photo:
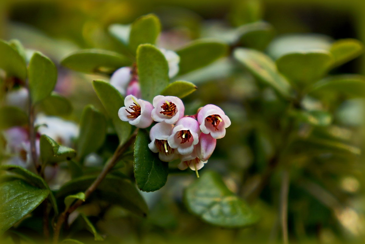
{"label": "rightmost open pink flower of the sharp cluster, above closed bud", "polygon": [[205,105],[198,113],[200,130],[204,134],[211,134],[215,139],[226,135],[226,128],[231,125],[231,121],[223,110],[213,104]]}

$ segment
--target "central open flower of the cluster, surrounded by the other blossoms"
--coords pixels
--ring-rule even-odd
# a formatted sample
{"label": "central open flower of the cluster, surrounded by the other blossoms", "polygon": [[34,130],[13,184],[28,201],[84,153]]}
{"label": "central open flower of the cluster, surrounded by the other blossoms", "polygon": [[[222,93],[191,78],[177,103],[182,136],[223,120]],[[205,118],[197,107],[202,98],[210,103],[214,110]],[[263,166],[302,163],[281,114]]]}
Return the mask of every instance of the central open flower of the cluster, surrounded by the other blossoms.
{"label": "central open flower of the cluster, surrounded by the other blossoms", "polygon": [[190,117],[181,118],[167,139],[172,148],[176,148],[181,155],[193,152],[199,142],[199,123]]}

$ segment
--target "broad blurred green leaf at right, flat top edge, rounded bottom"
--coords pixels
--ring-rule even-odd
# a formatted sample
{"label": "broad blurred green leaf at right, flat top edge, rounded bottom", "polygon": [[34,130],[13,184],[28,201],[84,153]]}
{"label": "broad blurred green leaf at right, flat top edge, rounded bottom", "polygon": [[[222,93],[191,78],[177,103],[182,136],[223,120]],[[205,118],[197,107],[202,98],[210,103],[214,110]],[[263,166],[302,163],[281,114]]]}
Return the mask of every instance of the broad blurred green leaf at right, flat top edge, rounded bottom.
{"label": "broad blurred green leaf at right, flat top edge, rounded bottom", "polygon": [[318,81],[330,68],[333,58],[326,51],[288,53],[276,60],[278,70],[294,83]]}

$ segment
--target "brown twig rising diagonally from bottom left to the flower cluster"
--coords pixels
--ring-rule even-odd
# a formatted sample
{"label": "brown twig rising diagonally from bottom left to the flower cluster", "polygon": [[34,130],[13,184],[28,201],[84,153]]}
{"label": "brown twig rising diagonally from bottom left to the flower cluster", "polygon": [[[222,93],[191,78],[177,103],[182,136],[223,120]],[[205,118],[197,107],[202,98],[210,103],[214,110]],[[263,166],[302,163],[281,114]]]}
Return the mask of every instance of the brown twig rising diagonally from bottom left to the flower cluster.
{"label": "brown twig rising diagonally from bottom left to the flower cluster", "polygon": [[[103,170],[100,172],[100,174],[97,176],[97,178],[94,180],[94,182],[87,188],[85,191],[85,199],[87,199],[99,186],[101,181],[107,176],[107,174],[111,171],[111,169],[114,167],[114,165],[118,162],[120,156],[123,155],[123,153],[128,149],[128,147],[132,144],[135,137],[137,136],[138,129],[134,131],[132,136],[129,138],[129,140],[124,144],[118,146],[118,148],[115,150],[113,156],[110,160],[105,164]],[[54,235],[53,235],[53,244],[58,243],[59,234],[61,232],[62,225],[64,224],[66,218],[69,216],[70,213],[75,211],[78,207],[80,207],[84,203],[81,200],[77,200],[73,205],[71,205],[68,209],[65,209],[63,211],[57,220],[57,223],[54,227]]]}

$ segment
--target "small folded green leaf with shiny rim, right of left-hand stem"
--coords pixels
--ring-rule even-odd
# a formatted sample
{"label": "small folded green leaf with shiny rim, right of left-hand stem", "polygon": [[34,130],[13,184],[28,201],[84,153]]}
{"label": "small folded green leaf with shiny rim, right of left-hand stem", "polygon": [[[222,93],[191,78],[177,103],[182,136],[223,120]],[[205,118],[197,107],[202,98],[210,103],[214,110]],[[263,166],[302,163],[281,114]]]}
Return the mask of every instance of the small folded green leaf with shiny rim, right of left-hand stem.
{"label": "small folded green leaf with shiny rim, right of left-hand stem", "polygon": [[40,147],[42,164],[58,163],[76,156],[74,149],[58,145],[57,142],[45,134],[41,136]]}

